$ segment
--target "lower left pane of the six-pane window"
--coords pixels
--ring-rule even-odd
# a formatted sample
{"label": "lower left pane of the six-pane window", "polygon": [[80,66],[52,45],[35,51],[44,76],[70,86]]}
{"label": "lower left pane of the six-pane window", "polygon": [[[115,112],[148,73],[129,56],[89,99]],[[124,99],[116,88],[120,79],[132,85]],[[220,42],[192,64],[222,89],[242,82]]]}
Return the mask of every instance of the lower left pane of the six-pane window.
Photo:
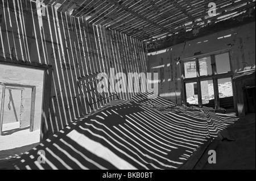
{"label": "lower left pane of the six-pane window", "polygon": [[197,83],[186,83],[187,103],[198,105]]}

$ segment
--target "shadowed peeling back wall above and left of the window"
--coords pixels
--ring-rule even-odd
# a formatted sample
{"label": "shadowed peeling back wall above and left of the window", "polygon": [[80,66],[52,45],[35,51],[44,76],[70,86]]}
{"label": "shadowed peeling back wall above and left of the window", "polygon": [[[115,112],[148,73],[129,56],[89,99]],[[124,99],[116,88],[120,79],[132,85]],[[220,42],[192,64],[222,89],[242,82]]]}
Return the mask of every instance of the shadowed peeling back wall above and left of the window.
{"label": "shadowed peeling back wall above and left of the window", "polygon": [[159,73],[159,94],[181,104],[178,60],[230,49],[232,71],[255,69],[255,22],[148,53],[148,71]]}

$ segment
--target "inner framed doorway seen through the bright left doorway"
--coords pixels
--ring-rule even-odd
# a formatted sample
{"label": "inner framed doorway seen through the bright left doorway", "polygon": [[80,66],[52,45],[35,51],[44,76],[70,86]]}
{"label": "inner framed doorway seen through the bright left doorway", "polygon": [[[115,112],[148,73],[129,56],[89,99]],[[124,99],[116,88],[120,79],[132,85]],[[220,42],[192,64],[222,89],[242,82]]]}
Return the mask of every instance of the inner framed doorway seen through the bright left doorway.
{"label": "inner framed doorway seen through the bright left doorway", "polygon": [[[0,136],[3,135],[3,125],[5,131],[8,127],[13,128],[14,125],[19,129],[29,127],[30,132],[40,129],[40,121],[35,121],[35,111],[42,110],[42,107],[35,107],[36,86],[2,82],[0,84],[2,86]],[[42,91],[38,95],[38,99],[42,99],[39,96],[42,96]]]}

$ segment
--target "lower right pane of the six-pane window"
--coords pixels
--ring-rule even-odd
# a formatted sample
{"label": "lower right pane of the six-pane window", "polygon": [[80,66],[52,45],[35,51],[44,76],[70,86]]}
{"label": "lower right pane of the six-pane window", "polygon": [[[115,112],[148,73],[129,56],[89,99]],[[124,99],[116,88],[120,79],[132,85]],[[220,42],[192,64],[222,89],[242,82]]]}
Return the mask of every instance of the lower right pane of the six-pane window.
{"label": "lower right pane of the six-pane window", "polygon": [[218,79],[218,94],[220,96],[220,107],[225,109],[234,108],[231,78]]}

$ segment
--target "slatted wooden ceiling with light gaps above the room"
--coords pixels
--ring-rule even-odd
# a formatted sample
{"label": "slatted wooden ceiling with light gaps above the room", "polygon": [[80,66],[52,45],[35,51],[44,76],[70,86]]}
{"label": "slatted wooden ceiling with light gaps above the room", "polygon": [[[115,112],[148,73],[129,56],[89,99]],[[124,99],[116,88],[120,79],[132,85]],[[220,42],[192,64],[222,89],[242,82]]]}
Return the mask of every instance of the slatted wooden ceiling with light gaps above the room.
{"label": "slatted wooden ceiling with light gaps above the room", "polygon": [[[139,40],[154,40],[181,30],[215,23],[254,7],[255,0],[41,0],[59,11],[84,16],[93,24],[119,31]],[[217,15],[209,16],[209,3]]]}

